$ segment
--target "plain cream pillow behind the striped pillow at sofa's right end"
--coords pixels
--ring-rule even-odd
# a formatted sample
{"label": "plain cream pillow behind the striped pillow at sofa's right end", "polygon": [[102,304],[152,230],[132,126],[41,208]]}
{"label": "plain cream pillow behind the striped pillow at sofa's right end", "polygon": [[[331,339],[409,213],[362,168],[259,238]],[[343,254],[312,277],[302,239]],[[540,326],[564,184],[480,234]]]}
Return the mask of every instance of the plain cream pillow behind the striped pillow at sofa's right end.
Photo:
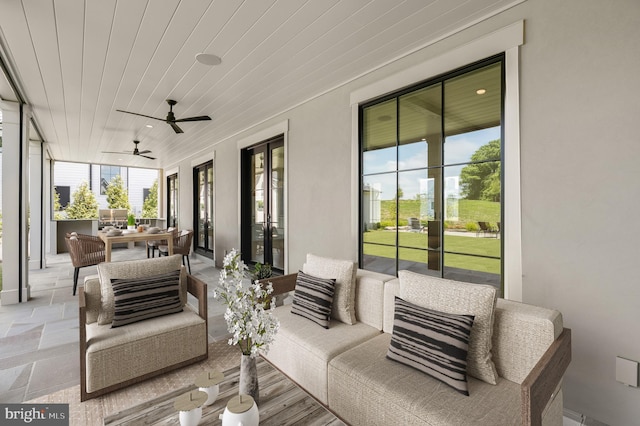
{"label": "plain cream pillow behind the striped pillow at sofa's right end", "polygon": [[491,359],[491,339],[497,289],[490,285],[447,280],[411,271],[398,271],[398,278],[402,299],[440,312],[474,316],[467,373],[495,385],[498,373]]}

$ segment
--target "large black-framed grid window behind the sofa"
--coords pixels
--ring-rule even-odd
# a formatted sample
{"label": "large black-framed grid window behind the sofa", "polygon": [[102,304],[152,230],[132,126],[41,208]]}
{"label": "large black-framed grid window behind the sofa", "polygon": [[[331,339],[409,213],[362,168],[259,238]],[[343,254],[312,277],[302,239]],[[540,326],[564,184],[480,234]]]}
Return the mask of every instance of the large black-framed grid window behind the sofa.
{"label": "large black-framed grid window behind the sofa", "polygon": [[360,267],[502,286],[503,56],[360,106]]}

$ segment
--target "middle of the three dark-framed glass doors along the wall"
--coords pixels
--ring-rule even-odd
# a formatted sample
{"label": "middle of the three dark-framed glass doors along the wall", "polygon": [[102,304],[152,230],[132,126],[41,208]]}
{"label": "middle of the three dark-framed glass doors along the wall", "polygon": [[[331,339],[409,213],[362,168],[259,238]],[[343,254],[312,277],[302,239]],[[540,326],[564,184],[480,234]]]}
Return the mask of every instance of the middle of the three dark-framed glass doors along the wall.
{"label": "middle of the three dark-framed glass doors along the wall", "polygon": [[213,161],[193,168],[193,188],[194,250],[213,259]]}

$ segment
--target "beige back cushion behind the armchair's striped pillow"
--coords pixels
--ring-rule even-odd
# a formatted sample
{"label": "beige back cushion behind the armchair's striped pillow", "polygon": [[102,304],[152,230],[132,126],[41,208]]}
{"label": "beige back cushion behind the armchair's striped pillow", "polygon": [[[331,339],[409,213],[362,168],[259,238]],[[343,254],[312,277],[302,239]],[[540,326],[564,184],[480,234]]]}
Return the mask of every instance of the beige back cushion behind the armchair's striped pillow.
{"label": "beige back cushion behind the armchair's striped pillow", "polygon": [[101,308],[98,314],[98,324],[111,324],[115,302],[113,298],[112,278],[142,278],[149,275],[164,274],[181,270],[180,301],[187,303],[186,270],[182,267],[182,256],[179,254],[159,257],[155,259],[130,260],[126,262],[109,262],[98,265],[100,277]]}

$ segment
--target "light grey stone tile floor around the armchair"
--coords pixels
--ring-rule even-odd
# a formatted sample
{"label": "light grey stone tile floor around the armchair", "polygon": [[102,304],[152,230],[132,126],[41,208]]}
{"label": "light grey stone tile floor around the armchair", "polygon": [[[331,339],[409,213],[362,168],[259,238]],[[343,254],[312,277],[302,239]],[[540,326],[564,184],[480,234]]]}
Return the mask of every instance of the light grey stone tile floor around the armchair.
{"label": "light grey stone tile floor around the armchair", "polygon": [[[113,260],[146,258],[144,247],[114,249]],[[190,258],[191,272],[209,286],[217,283],[213,262]],[[80,269],[78,286],[96,267]],[[0,402],[23,402],[80,383],[78,296],[66,253],[47,256],[47,268],[29,271],[31,299],[0,304]],[[211,287],[210,287],[211,288]],[[224,307],[209,291],[209,341],[228,336]],[[0,301],[1,303],[1,301]]]}

